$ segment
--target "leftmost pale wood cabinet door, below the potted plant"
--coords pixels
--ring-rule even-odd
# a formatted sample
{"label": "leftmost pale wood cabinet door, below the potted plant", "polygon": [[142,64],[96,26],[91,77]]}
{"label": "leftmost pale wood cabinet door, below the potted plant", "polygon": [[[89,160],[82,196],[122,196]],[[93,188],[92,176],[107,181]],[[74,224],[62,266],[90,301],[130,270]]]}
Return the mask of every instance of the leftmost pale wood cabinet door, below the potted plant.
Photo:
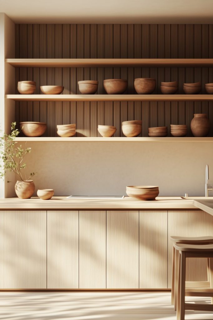
{"label": "leftmost pale wood cabinet door, below the potted plant", "polygon": [[46,211],[0,211],[0,288],[46,289]]}

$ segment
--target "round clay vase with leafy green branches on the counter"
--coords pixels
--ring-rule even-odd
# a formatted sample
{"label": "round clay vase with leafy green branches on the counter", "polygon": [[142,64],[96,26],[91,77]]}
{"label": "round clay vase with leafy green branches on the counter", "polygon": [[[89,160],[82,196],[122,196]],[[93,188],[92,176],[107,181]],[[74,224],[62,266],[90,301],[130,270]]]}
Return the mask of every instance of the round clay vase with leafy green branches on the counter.
{"label": "round clay vase with leafy green branches on the counter", "polygon": [[25,156],[31,152],[31,148],[22,148],[21,145],[17,146],[15,138],[18,136],[19,131],[15,129],[16,123],[11,124],[11,134],[4,133],[0,137],[0,178],[4,177],[6,171],[12,171],[19,176],[15,184],[15,192],[20,199],[29,199],[35,191],[35,185],[32,179],[34,172],[26,177],[24,169]]}

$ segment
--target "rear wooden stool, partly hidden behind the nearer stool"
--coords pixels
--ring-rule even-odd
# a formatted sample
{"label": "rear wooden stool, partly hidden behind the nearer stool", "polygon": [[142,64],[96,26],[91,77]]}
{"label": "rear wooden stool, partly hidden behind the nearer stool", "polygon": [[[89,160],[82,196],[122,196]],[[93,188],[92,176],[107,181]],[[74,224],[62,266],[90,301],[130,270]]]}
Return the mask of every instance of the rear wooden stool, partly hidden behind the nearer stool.
{"label": "rear wooden stool, partly hidden behind the nearer stool", "polygon": [[[173,242],[172,250],[172,282],[171,282],[171,304],[174,304],[174,309],[177,309],[177,291],[178,291],[178,257],[179,252],[175,249],[174,244],[193,244],[193,245],[203,245],[203,244],[213,244],[213,236],[204,237],[176,237],[171,236],[171,241]],[[209,282],[209,259],[207,260],[207,275],[208,281],[187,281],[186,288],[210,288]],[[213,303],[213,298],[211,299]]]}

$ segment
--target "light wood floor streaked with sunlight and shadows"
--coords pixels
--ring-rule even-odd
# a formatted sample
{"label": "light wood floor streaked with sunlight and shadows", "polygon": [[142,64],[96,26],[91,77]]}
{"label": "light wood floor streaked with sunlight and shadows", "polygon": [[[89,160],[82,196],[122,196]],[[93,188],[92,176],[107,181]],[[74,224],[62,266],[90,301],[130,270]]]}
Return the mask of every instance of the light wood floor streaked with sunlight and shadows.
{"label": "light wood floor streaked with sunlight and shadows", "polygon": [[[0,292],[0,319],[175,320],[170,297],[170,292]],[[186,311],[185,319],[213,319],[213,313]]]}

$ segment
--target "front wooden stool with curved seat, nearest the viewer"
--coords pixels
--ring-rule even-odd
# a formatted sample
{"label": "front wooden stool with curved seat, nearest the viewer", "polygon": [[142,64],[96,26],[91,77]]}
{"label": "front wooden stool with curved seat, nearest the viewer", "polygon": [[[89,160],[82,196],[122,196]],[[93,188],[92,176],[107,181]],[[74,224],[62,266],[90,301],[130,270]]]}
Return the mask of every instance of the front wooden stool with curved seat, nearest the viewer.
{"label": "front wooden stool with curved seat, nearest the viewer", "polygon": [[213,286],[213,244],[174,244],[174,247],[179,252],[177,320],[185,319],[185,310],[213,311],[212,304],[185,303],[185,296],[213,297],[213,289],[211,288],[185,288],[186,258],[209,259],[210,285]]}

